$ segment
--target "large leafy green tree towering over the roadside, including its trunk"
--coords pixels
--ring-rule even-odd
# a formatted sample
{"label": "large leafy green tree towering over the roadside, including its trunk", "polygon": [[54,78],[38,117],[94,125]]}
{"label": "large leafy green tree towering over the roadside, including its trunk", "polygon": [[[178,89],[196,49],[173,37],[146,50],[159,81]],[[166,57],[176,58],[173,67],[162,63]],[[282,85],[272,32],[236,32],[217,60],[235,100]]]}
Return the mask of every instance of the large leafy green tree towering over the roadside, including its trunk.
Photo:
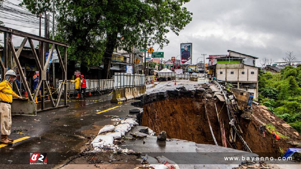
{"label": "large leafy green tree towering over the roadside, including its trunk", "polygon": [[[85,62],[85,58],[97,55],[95,52],[100,54],[103,45],[102,78],[108,78],[114,48],[119,46],[130,52],[133,46],[146,48],[168,44],[166,33],[172,31],[178,35],[192,20],[192,13],[182,7],[189,1],[57,0],[57,29],[62,39],[70,44],[73,57]],[[23,0],[23,5],[38,14],[44,8],[51,10],[51,3],[45,2]]]}

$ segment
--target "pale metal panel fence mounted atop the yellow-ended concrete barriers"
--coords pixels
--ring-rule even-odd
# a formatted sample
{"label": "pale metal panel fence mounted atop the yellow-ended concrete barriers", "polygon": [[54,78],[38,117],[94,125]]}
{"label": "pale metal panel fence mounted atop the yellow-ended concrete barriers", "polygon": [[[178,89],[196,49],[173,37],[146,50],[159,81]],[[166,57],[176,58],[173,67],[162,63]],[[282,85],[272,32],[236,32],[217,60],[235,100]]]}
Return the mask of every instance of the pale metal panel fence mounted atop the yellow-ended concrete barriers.
{"label": "pale metal panel fence mounted atop the yellow-ended concrete barriers", "polygon": [[115,73],[114,75],[114,88],[127,88],[144,86],[145,75],[143,74],[130,74],[130,73]]}

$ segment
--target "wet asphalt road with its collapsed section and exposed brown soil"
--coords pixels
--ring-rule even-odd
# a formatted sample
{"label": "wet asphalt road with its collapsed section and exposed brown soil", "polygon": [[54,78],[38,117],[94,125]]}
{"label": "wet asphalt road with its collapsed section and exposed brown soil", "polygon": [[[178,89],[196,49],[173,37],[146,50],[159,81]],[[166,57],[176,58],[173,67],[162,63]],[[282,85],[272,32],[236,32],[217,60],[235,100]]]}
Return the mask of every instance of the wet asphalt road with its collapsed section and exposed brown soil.
{"label": "wet asphalt road with its collapsed section and exposed brown soil", "polygon": [[[247,152],[244,142],[231,131],[225,101],[220,101],[220,97],[216,96],[209,85],[198,85],[197,82],[185,80],[178,81],[177,85],[173,83],[160,82],[148,88],[148,94],[139,101],[112,104],[108,97],[107,101],[101,103],[85,105],[86,102],[80,102],[68,109],[39,113],[36,120],[30,123],[30,117],[16,117],[13,130],[21,129],[22,134],[30,138],[13,146],[2,147],[0,151],[47,151],[48,161],[56,159],[51,166],[54,168],[73,168],[84,164],[86,167],[135,168],[142,167],[143,164],[162,165],[161,162],[166,159],[180,168],[215,168],[216,164],[220,164],[220,168],[232,168],[239,167],[242,162],[221,161],[223,156],[256,157],[268,153],[269,157],[276,157],[280,155],[280,149],[286,151],[287,148],[294,147],[287,142],[301,140],[298,133],[283,120],[264,106],[253,104],[253,111],[248,118],[237,119],[240,136],[253,153]],[[130,114],[129,110],[136,107],[141,112]],[[124,120],[130,118],[136,118],[138,125],[133,122],[129,124],[130,128],[126,128],[124,136],[114,136],[113,143],[102,144],[101,139],[95,139],[97,136],[116,133],[115,131],[123,132],[116,130],[116,127],[127,124]],[[223,133],[219,120],[224,124]],[[209,121],[213,132],[210,131]],[[48,124],[48,128],[41,124]],[[267,124],[273,124],[286,137],[276,140],[268,131],[264,137],[259,128]],[[111,132],[99,133],[105,125],[113,125],[114,128]],[[158,141],[148,131],[154,131],[156,135],[166,131],[167,140]],[[15,133],[14,137],[19,135]],[[213,135],[219,146],[215,145]],[[51,158],[51,152],[61,154],[55,154],[53,157],[56,158]],[[16,161],[13,155],[1,158],[6,163],[10,163],[8,160],[11,159]],[[23,163],[20,159],[18,162]],[[293,163],[289,167],[298,166],[298,163]],[[274,167],[288,168],[284,164],[277,165],[277,162]]]}

